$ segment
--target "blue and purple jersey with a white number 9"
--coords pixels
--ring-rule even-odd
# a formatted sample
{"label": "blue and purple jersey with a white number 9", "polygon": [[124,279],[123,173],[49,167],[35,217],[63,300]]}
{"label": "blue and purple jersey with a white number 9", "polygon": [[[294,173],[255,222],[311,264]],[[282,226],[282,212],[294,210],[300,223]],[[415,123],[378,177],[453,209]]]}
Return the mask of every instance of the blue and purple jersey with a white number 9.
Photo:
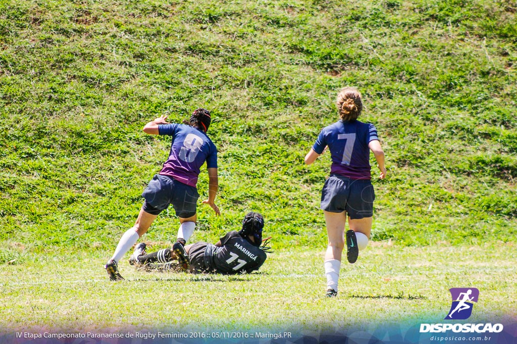
{"label": "blue and purple jersey with a white number 9", "polygon": [[201,130],[171,123],[158,125],[158,133],[172,136],[171,153],[160,174],[195,187],[205,161],[207,168],[217,168],[216,146]]}

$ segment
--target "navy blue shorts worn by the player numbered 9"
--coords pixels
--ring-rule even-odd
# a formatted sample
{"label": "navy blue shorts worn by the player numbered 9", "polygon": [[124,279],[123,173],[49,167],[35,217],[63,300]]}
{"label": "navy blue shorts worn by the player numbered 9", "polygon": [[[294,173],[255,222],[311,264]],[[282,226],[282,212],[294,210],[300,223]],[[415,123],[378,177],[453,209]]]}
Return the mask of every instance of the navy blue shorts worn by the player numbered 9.
{"label": "navy blue shorts worn by the player numbered 9", "polygon": [[194,186],[180,183],[166,175],[155,174],[142,196],[145,198],[145,212],[158,215],[172,204],[176,216],[186,219],[196,214],[199,193]]}

